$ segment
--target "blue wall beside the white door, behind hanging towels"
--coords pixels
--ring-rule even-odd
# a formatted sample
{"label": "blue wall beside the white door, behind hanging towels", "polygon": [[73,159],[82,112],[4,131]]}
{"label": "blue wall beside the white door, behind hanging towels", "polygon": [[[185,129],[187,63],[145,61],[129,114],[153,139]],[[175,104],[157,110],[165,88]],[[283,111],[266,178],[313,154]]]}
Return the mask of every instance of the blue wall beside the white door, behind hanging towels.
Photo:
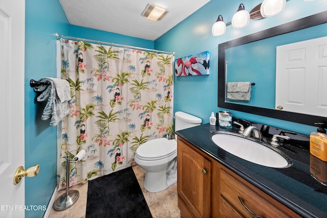
{"label": "blue wall beside the white door, behind hanging towels", "polygon": [[[44,104],[36,102],[31,79],[56,77],[56,32],[69,33],[59,1],[26,1],[25,20],[25,167],[40,164],[36,177],[25,178],[25,204],[46,205],[56,187],[57,128],[40,119]],[[42,217],[45,211],[26,211]]]}

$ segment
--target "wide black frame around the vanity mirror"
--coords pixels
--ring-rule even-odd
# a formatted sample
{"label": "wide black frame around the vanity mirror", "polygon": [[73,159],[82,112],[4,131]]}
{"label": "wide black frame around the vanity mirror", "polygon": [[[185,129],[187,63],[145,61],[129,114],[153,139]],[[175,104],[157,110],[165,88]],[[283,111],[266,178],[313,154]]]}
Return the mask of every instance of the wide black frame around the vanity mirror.
{"label": "wide black frame around the vanity mirror", "polygon": [[[242,111],[246,113],[268,116],[276,119],[287,120],[294,123],[305,124],[314,126],[314,123],[326,123],[327,117],[315,116],[309,114],[288,112],[269,108],[260,108],[255,106],[248,106],[242,104],[234,104],[225,102],[226,99],[226,75],[225,75],[225,62],[226,62],[226,49],[241,44],[246,44],[253,41],[258,41],[273,36],[290,33],[293,31],[305,29],[308,27],[317,26],[327,22],[327,11],[320,12],[308,17],[294,20],[283,25],[279,25],[267,30],[253,33],[241,38],[233,39],[218,45],[218,107]],[[327,116],[327,114],[326,114]]]}

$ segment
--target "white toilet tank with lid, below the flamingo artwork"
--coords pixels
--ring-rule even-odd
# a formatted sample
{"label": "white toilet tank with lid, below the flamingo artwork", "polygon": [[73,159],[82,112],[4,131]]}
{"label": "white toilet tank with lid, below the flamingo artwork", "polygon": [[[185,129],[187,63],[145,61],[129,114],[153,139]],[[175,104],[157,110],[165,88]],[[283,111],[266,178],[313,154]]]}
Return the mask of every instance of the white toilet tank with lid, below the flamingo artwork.
{"label": "white toilet tank with lid, below the flamingo artwork", "polygon": [[201,123],[202,119],[199,117],[181,111],[175,112],[175,132],[178,130],[199,126]]}

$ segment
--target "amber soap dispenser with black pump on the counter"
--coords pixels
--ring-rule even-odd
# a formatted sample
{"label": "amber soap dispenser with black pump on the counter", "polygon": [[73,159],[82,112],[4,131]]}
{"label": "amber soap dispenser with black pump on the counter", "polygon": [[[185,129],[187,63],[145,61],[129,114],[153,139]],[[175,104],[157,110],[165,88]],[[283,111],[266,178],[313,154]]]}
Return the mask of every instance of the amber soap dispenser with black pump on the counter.
{"label": "amber soap dispenser with black pump on the counter", "polygon": [[319,125],[317,132],[310,134],[310,154],[320,160],[327,162],[327,135],[324,123],[315,123]]}

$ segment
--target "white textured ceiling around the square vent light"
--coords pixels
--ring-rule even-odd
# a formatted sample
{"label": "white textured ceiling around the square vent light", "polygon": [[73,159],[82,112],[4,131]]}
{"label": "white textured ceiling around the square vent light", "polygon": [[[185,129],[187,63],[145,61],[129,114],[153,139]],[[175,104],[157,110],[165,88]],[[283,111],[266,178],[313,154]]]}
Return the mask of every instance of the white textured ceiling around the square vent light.
{"label": "white textured ceiling around the square vent light", "polygon": [[[71,25],[155,40],[210,0],[59,0]],[[141,13],[147,4],[166,8],[162,20],[152,21]]]}

